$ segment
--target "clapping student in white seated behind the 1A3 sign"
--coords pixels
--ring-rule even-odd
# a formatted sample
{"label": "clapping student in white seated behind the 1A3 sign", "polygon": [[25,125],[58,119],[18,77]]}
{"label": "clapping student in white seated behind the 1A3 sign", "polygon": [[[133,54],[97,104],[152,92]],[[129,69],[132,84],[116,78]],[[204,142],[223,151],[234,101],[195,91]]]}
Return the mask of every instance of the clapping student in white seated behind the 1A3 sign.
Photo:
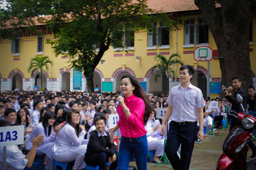
{"label": "clapping student in white seated behind the 1A3 sign", "polygon": [[[0,127],[9,126],[5,120],[0,120]],[[7,170],[44,170],[39,162],[34,162],[38,146],[44,136],[39,134],[32,139],[33,147],[27,155],[24,155],[17,145],[6,146],[6,168]],[[0,170],[3,170],[3,147],[0,147]]]}

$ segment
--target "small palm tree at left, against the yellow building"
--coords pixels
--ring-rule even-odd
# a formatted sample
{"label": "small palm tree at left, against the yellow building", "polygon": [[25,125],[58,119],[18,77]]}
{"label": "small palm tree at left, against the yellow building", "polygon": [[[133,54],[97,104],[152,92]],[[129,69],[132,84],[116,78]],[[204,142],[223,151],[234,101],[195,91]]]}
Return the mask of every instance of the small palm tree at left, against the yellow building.
{"label": "small palm tree at left, against the yellow building", "polygon": [[35,56],[34,58],[30,59],[28,71],[31,74],[31,76],[36,70],[39,71],[39,75],[41,76],[41,88],[43,86],[43,82],[42,82],[43,70],[44,70],[44,67],[46,68],[46,70],[48,70],[48,65],[47,65],[48,63],[52,65],[52,61],[50,61],[48,56]]}

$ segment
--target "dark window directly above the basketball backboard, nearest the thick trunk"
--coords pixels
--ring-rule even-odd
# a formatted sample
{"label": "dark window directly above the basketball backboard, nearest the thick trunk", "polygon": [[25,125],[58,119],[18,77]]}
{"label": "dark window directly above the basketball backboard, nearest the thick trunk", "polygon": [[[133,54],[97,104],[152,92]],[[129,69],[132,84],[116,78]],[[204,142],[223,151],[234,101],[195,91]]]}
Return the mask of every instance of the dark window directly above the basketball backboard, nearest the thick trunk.
{"label": "dark window directly above the basketball backboard, nearest the thick trunk", "polygon": [[[198,18],[198,28],[199,28],[199,44],[205,44],[209,43],[209,28],[207,26],[207,23],[203,18]],[[197,34],[198,36],[198,34]]]}

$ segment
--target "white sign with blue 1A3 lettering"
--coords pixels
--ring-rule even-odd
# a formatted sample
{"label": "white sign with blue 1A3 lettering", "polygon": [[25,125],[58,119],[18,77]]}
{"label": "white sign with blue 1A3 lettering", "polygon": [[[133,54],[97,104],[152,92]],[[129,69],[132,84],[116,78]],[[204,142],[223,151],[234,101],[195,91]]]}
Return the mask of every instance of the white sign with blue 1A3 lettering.
{"label": "white sign with blue 1A3 lettering", "polygon": [[24,126],[0,127],[0,147],[24,143]]}

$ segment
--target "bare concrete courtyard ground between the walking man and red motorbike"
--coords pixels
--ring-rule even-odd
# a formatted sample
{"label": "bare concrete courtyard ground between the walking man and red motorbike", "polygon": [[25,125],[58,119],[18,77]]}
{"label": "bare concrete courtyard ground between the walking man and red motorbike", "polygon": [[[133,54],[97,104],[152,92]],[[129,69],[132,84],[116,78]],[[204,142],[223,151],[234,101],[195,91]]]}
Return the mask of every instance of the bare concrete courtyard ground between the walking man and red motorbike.
{"label": "bare concrete courtyard ground between the walking man and red motorbike", "polygon": [[[221,144],[227,136],[228,129],[219,129],[220,133],[215,135],[215,138],[207,136],[201,144],[195,144],[189,170],[214,170],[217,164],[218,157],[222,153]],[[254,141],[256,144],[256,141]],[[252,151],[248,150],[247,158],[251,156]],[[248,161],[249,159],[247,159]],[[130,165],[136,166],[135,161],[131,161]],[[170,170],[170,165],[157,164],[148,161],[148,170]]]}

